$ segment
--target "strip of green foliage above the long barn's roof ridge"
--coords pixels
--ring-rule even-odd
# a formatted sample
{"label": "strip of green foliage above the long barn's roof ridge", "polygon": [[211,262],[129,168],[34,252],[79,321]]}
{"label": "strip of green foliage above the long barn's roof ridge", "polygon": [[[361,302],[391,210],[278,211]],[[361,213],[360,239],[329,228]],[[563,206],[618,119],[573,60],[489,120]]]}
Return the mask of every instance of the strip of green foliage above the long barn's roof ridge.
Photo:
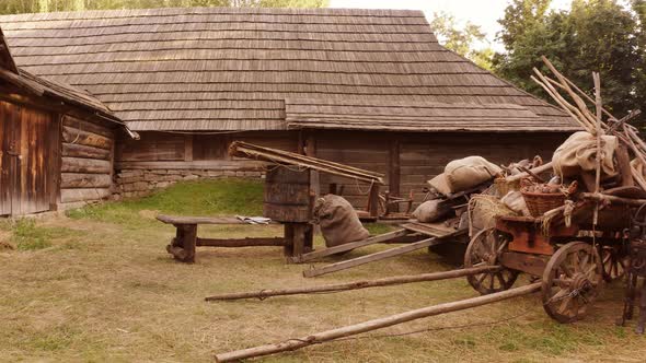
{"label": "strip of green foliage above the long barn's roof ridge", "polygon": [[328,0],[0,0],[0,14],[188,7],[324,8],[327,3]]}

